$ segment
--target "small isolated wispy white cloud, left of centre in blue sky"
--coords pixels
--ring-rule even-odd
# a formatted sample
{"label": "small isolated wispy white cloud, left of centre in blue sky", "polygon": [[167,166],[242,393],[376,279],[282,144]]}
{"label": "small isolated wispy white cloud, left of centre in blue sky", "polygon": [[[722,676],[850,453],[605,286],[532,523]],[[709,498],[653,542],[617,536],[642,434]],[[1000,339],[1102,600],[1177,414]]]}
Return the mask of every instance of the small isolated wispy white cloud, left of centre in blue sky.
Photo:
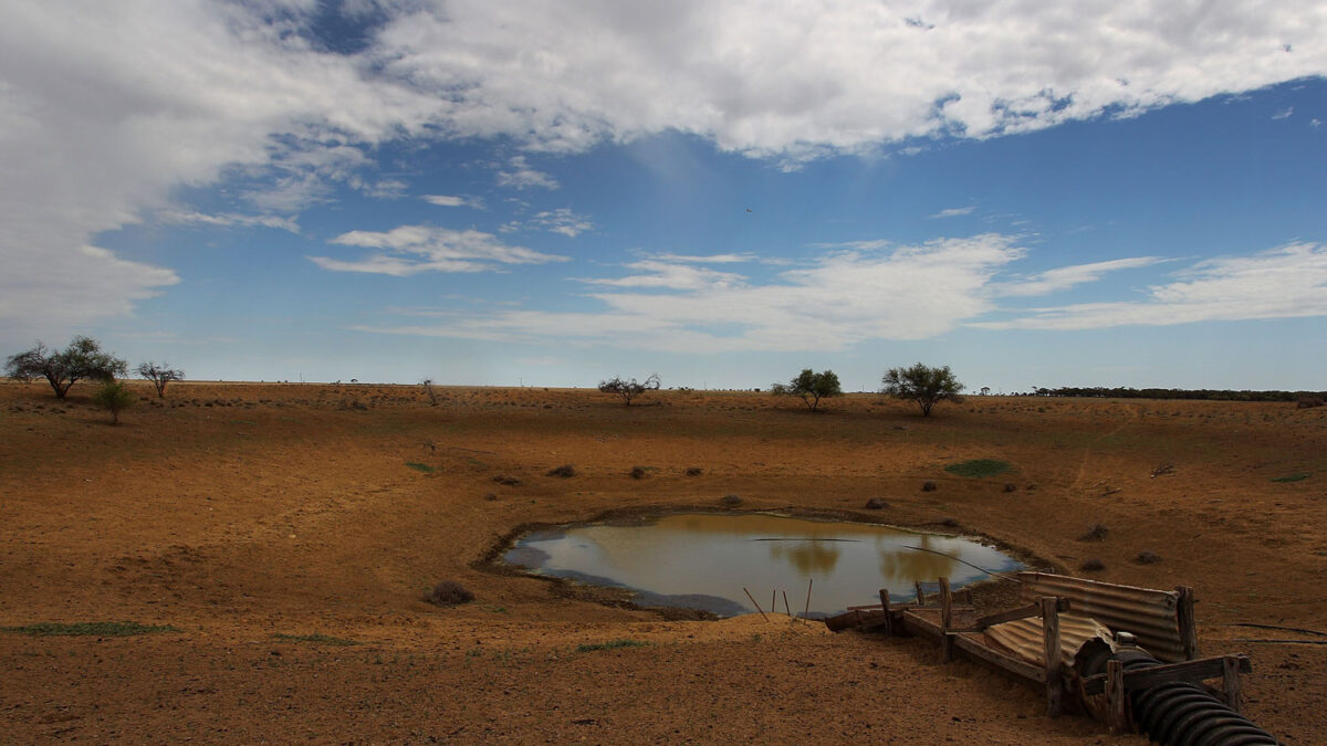
{"label": "small isolated wispy white cloud, left of centre in blue sky", "polygon": [[419,272],[487,272],[508,264],[565,261],[565,256],[507,246],[492,234],[433,226],[399,226],[386,232],[350,231],[332,239],[341,246],[386,250],[360,260],[309,256],[334,272],[370,272],[403,277]]}

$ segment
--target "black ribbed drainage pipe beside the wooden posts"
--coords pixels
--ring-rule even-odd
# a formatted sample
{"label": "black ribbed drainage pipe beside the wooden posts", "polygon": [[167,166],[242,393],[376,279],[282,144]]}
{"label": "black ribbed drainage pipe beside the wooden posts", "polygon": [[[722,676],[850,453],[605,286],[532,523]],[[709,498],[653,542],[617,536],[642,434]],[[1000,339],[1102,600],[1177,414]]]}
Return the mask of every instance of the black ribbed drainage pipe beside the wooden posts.
{"label": "black ribbed drainage pipe beside the wooden posts", "polygon": [[[1124,670],[1152,668],[1161,661],[1143,650],[1120,650],[1111,656]],[[1105,668],[1104,658],[1099,665]],[[1196,684],[1170,682],[1139,689],[1129,694],[1133,722],[1157,743],[1174,746],[1243,746],[1278,743],[1270,733],[1231,710]]]}

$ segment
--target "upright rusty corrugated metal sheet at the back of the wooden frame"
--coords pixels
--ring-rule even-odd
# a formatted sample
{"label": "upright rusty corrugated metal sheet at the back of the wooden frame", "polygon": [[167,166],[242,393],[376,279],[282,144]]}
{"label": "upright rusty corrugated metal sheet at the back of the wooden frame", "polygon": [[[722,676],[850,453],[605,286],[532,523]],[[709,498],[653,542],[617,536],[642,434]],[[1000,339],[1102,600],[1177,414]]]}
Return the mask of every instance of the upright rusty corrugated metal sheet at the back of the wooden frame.
{"label": "upright rusty corrugated metal sheet at the back of the wooden frame", "polygon": [[1092,617],[1112,632],[1129,632],[1139,645],[1162,661],[1185,660],[1177,608],[1180,593],[1135,585],[1099,583],[1067,575],[1019,572],[1023,597],[1059,596],[1070,599],[1076,616]]}

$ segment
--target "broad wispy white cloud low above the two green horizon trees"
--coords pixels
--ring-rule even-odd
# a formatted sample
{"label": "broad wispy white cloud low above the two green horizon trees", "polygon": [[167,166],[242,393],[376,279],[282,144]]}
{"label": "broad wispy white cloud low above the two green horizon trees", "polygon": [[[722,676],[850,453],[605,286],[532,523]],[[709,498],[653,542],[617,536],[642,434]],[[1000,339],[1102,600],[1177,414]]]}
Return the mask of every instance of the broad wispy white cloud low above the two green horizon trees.
{"label": "broad wispy white cloud low above the two green horizon trees", "polygon": [[[941,239],[888,252],[836,251],[768,284],[727,272],[642,260],[637,275],[588,279],[581,313],[456,313],[438,325],[362,331],[502,341],[569,340],[665,352],[841,350],[869,338],[942,335],[993,308],[983,288],[1023,251],[1009,236]],[[649,292],[630,292],[649,291]],[[660,292],[670,291],[670,292]]]}

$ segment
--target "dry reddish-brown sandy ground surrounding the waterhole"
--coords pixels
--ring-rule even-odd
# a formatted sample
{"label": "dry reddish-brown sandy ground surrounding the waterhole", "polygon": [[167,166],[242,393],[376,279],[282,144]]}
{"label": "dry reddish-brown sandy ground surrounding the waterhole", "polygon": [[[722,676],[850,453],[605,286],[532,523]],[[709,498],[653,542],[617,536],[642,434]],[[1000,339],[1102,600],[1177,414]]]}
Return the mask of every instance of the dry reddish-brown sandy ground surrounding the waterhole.
{"label": "dry reddish-brown sandy ground surrounding the waterhole", "polygon": [[[1327,637],[1239,627],[1327,631],[1324,409],[971,397],[922,418],[867,394],[811,414],[755,393],[137,386],[113,427],[86,386],[0,384],[0,627],[176,629],[0,633],[5,739],[1143,743],[1047,718],[1035,689],[924,641],[667,620],[484,563],[524,524],[738,494],[1193,585],[1202,653],[1253,658],[1246,713],[1327,742],[1327,645],[1300,642]],[[1016,471],[943,471],[969,458]],[[579,475],[544,475],[563,463]],[[1107,538],[1080,540],[1096,523]],[[445,579],[475,601],[425,603]],[[640,645],[577,650],[614,640]]]}

